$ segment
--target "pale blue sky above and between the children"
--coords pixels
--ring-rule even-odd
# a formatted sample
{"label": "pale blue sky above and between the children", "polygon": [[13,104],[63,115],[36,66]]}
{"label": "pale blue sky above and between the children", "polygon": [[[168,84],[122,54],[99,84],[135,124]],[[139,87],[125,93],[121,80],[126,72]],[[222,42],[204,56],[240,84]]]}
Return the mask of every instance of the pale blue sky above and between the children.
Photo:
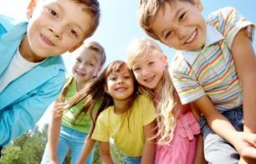
{"label": "pale blue sky above and between the children", "polygon": [[[26,4],[29,0],[8,0],[0,6],[0,14],[7,14],[17,19],[26,18]],[[107,63],[114,59],[126,59],[126,50],[130,42],[137,37],[147,37],[137,23],[137,7],[139,0],[99,0],[102,9],[102,18],[96,33],[90,40],[101,42],[107,53]],[[203,15],[207,17],[212,11],[227,6],[235,7],[247,19],[256,22],[255,0],[202,0]],[[169,59],[172,59],[174,50],[160,45]],[[253,48],[256,49],[255,39]],[[67,72],[73,64],[71,54],[64,54]],[[45,114],[45,117],[48,112]]]}

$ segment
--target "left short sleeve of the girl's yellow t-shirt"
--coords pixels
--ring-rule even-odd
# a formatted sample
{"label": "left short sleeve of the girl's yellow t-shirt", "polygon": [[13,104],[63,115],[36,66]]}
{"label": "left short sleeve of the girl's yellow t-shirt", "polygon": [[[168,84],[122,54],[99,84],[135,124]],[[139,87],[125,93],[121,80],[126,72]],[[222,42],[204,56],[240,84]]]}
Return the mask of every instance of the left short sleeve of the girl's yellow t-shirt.
{"label": "left short sleeve of the girl's yellow t-shirt", "polygon": [[97,120],[96,127],[92,133],[92,139],[102,142],[109,142],[109,132],[108,132],[108,116],[106,112],[102,112]]}

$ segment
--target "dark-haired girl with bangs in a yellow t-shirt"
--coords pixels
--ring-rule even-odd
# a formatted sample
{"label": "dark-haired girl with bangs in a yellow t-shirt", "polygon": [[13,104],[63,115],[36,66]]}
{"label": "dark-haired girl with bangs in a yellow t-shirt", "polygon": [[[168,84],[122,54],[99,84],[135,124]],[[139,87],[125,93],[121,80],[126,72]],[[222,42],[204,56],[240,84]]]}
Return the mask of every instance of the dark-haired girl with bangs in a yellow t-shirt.
{"label": "dark-haired girl with bangs in a yellow t-shirt", "polygon": [[[153,103],[137,93],[137,83],[124,61],[113,61],[98,78],[90,82],[70,102],[87,98],[84,110],[101,102],[93,119],[91,138],[100,145],[102,163],[113,164],[109,139],[125,154],[127,164],[152,164],[154,161],[155,108]],[[86,155],[84,146],[84,156]],[[82,163],[83,160],[80,161]]]}

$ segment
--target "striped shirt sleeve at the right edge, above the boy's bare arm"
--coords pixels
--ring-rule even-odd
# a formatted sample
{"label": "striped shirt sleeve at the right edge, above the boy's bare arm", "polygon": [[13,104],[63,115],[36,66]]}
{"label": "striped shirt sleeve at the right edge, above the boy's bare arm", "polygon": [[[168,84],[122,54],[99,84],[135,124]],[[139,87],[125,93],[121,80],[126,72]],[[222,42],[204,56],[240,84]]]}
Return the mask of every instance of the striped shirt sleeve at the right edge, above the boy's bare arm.
{"label": "striped shirt sleeve at the right edge, above the boy's bare arm", "polygon": [[219,9],[210,14],[207,23],[217,28],[223,34],[229,48],[231,48],[236,34],[243,28],[249,39],[253,41],[255,25],[239,14],[236,8],[228,7]]}

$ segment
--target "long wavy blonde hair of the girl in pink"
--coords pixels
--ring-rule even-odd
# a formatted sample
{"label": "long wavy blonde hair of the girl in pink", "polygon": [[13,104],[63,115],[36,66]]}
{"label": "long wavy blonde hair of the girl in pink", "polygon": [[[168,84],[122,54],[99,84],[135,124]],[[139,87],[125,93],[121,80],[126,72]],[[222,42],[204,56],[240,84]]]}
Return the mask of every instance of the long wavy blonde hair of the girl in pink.
{"label": "long wavy blonde hair of the girl in pink", "polygon": [[[130,69],[135,65],[138,58],[144,58],[144,56],[149,53],[165,57],[161,48],[148,38],[137,39],[132,42],[131,47],[128,50],[128,65]],[[173,110],[179,105],[179,99],[177,98],[177,93],[172,85],[172,79],[167,67],[161,78],[160,86],[159,101],[155,100],[154,91],[149,88],[139,85],[138,89],[140,93],[148,95],[150,99],[154,100],[154,105],[156,106],[158,113],[158,133],[155,136],[159,138],[158,144],[169,144],[172,140],[177,120],[177,113],[174,115]]]}

